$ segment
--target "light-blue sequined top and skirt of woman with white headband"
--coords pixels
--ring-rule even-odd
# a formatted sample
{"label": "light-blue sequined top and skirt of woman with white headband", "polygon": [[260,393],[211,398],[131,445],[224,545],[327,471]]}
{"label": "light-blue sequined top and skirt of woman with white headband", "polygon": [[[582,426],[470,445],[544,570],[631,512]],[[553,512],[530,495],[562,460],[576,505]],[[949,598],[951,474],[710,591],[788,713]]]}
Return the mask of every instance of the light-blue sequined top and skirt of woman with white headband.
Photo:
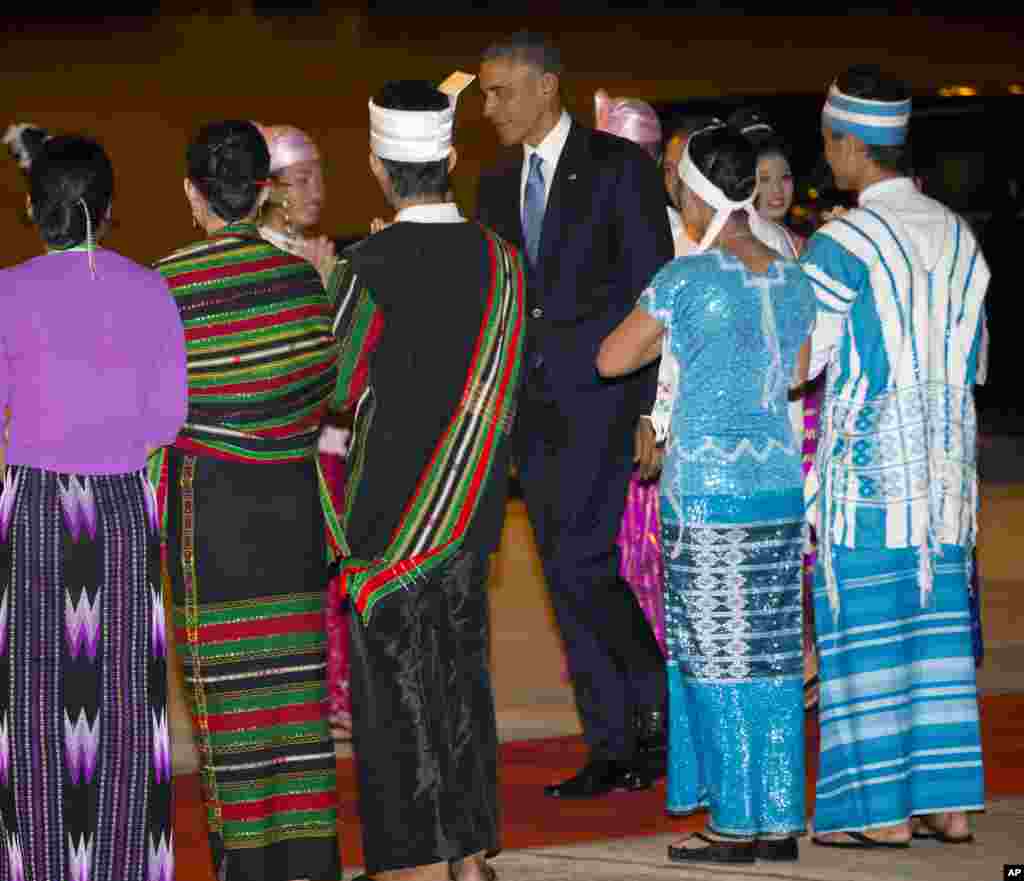
{"label": "light-blue sequined top and skirt of woman with white headband", "polygon": [[662,475],[668,809],[727,835],[805,827],[801,450],[786,392],[814,320],[796,263],[673,260],[639,305],[679,392]]}

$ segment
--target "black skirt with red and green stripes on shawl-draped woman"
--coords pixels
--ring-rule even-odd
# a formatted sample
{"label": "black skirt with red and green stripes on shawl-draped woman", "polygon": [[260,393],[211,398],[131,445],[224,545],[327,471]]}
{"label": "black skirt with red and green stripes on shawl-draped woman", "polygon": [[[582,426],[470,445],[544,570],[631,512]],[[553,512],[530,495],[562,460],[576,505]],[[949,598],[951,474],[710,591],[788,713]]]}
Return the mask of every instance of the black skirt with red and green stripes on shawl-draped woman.
{"label": "black skirt with red and green stripes on shawl-draped woman", "polygon": [[221,881],[338,881],[324,515],[312,460],[169,451],[175,643]]}

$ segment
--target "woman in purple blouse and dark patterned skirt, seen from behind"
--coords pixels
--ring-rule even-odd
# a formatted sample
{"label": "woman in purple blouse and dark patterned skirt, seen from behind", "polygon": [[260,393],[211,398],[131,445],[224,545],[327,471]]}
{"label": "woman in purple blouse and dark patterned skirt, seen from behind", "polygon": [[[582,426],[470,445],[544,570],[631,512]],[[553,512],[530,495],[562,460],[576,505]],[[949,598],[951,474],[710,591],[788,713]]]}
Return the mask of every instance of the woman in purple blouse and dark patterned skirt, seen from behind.
{"label": "woman in purple blouse and dark patterned skirt, seen from behind", "polygon": [[114,188],[102,148],[36,146],[23,166],[45,253],[0,271],[0,875],[170,879],[144,465],[185,419],[184,334],[161,276],[96,244]]}

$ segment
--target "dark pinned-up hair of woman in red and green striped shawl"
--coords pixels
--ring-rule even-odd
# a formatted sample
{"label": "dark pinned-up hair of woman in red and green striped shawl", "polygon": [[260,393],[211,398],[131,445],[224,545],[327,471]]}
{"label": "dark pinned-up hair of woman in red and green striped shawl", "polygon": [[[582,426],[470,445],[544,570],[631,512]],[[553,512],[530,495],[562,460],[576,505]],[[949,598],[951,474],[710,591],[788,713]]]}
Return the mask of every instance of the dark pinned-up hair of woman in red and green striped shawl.
{"label": "dark pinned-up hair of woman in red and green striped shawl", "polygon": [[188,179],[210,209],[228,223],[248,217],[270,173],[270,151],[248,120],[214,122],[200,129],[185,154]]}

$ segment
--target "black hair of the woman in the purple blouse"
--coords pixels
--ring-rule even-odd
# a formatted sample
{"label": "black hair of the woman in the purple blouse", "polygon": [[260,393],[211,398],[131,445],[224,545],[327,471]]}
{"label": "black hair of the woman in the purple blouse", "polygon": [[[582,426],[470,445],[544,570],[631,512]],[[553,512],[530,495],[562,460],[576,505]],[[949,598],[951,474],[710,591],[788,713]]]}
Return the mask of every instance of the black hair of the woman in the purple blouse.
{"label": "black hair of the woman in the purple blouse", "polygon": [[[52,248],[86,241],[106,219],[114,197],[114,166],[94,140],[77,134],[39,145],[29,169],[32,219]],[[86,219],[88,212],[88,220]]]}

